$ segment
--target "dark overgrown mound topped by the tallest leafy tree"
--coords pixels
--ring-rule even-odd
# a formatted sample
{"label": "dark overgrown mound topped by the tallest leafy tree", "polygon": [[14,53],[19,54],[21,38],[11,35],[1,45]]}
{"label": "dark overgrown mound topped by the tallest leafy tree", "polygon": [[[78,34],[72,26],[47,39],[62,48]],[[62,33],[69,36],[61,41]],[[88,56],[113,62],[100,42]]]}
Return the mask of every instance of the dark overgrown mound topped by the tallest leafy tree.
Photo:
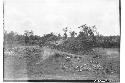
{"label": "dark overgrown mound topped by the tallest leafy tree", "polygon": [[[66,50],[78,53],[88,53],[92,51],[95,45],[95,26],[89,27],[86,24],[79,27],[81,30],[77,37],[74,37],[75,32],[70,32],[70,35],[74,38],[66,40],[63,44]],[[71,34],[72,33],[72,34]]]}

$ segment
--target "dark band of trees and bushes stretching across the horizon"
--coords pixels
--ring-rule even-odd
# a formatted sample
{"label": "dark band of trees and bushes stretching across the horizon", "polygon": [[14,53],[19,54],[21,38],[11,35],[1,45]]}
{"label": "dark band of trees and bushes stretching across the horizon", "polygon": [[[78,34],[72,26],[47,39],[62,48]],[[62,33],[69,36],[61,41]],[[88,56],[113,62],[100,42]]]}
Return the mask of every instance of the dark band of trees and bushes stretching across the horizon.
{"label": "dark band of trees and bushes stretching across the horizon", "polygon": [[[19,35],[13,31],[4,31],[4,44],[20,44],[20,45],[49,45],[49,42],[64,41],[59,47],[72,51],[80,51],[93,47],[102,48],[119,48],[120,36],[103,36],[99,35],[95,26],[89,27],[86,24],[78,27],[80,32],[70,31],[70,37],[67,36],[68,28],[64,28],[64,35],[55,35],[54,33],[45,34],[43,36],[34,35],[33,31],[25,31],[23,35]],[[56,45],[55,45],[56,46]]]}

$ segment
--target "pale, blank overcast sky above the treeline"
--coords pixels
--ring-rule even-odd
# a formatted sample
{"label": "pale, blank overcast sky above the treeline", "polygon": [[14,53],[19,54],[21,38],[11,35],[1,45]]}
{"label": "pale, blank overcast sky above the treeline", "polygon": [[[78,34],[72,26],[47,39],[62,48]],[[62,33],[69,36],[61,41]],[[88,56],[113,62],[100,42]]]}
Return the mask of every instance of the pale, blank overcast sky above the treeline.
{"label": "pale, blank overcast sky above the treeline", "polygon": [[102,35],[119,35],[119,0],[4,0],[4,29],[36,35],[96,25]]}

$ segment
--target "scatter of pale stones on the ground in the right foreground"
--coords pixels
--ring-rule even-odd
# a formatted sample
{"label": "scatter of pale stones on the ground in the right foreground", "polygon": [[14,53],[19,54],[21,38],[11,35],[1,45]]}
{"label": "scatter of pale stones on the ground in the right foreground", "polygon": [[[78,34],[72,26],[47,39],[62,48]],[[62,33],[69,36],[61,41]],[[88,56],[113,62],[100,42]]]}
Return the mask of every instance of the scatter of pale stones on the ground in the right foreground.
{"label": "scatter of pale stones on the ground in the right foreground", "polygon": [[65,55],[65,62],[62,63],[62,69],[65,71],[94,71],[102,70],[103,67],[100,64],[90,64],[91,62],[85,57],[69,56]]}

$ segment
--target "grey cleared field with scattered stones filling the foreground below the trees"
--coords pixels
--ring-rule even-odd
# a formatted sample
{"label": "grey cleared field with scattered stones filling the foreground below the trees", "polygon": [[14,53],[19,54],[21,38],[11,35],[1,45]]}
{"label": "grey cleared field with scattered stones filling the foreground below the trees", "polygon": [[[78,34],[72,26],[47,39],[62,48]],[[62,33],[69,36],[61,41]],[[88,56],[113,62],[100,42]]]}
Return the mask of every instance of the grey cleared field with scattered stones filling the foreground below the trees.
{"label": "grey cleared field with scattered stones filling the foreground below the trees", "polygon": [[119,81],[118,49],[94,50],[97,51],[97,57],[75,55],[38,46],[5,49],[4,79],[115,79]]}

